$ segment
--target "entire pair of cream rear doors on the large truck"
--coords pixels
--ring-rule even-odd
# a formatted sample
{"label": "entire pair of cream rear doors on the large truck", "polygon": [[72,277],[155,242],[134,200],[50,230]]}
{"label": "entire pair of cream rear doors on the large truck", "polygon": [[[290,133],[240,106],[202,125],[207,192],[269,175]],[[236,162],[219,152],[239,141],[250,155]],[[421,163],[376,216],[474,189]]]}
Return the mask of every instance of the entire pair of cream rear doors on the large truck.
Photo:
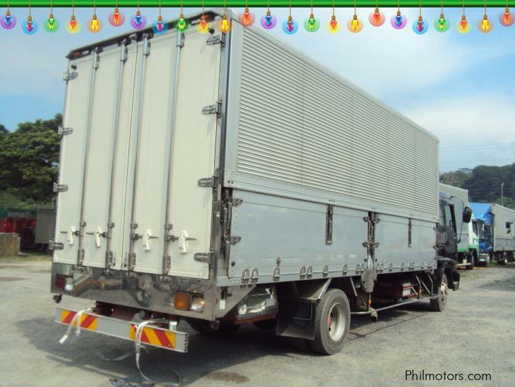
{"label": "entire pair of cream rear doors on the large truck", "polygon": [[211,245],[213,189],[198,184],[214,174],[218,122],[202,113],[218,99],[208,37],[171,31],[72,61],[56,262],[208,278],[195,260]]}

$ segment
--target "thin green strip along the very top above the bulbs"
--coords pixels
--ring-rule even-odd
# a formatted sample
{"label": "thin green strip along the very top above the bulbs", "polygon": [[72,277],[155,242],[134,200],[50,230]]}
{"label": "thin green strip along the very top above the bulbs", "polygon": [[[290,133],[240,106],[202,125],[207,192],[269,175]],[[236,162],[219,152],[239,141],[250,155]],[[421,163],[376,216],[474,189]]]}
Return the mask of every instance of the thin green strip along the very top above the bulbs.
{"label": "thin green strip along the very top above the bulbs", "polygon": [[[7,5],[5,0],[0,1],[0,4]],[[50,7],[50,0],[32,0],[32,7]],[[54,7],[71,7],[71,0],[54,0],[52,1]],[[163,7],[179,7],[181,2],[180,0],[162,0]],[[258,7],[266,7],[266,0],[226,0],[227,7],[237,7],[242,8],[249,4],[249,8],[258,8]],[[375,8],[376,0],[358,0],[357,1],[358,8]],[[28,7],[28,0],[10,0],[9,4],[11,7]],[[202,7],[201,0],[184,0],[182,1],[182,5],[184,8],[186,7]],[[338,8],[353,8],[354,1],[353,0],[335,0],[334,5]],[[440,8],[442,5],[441,0],[424,0],[422,1],[422,7],[435,7]],[[76,0],[76,7],[93,7],[93,0]],[[115,6],[115,0],[97,0],[97,7],[108,7],[113,8]],[[119,7],[130,7],[135,8],[137,6],[137,0],[118,0]],[[140,7],[157,7],[159,6],[159,0],[140,0]],[[206,8],[213,7],[223,7],[224,2],[220,0],[205,0],[204,6]],[[271,8],[280,8],[280,7],[288,7],[288,0],[270,0]],[[311,7],[311,0],[291,0],[292,7]],[[332,7],[332,0],[313,0],[313,6],[315,8],[322,7]],[[380,0],[379,6],[381,8],[393,8],[397,7],[397,0]],[[401,8],[408,7],[417,7],[419,6],[419,2],[417,0],[401,0],[400,1]],[[445,8],[461,8],[463,6],[462,0],[445,0],[444,1]],[[485,6],[484,0],[465,0],[465,7],[467,8],[480,8]],[[489,8],[504,8],[506,6],[506,1],[504,0],[487,0],[487,7]],[[515,8],[515,0],[509,0],[509,6]]]}

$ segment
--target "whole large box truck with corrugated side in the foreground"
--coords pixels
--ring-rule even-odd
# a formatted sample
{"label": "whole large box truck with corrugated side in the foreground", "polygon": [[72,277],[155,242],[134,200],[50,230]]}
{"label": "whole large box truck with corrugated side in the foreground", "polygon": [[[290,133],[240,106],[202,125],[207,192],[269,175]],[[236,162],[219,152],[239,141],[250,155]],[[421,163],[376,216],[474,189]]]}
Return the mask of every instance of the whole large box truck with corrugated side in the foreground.
{"label": "whole large box truck with corrugated side in the foreground", "polygon": [[96,303],[57,321],[181,352],[179,319],[252,322],[333,354],[351,314],[442,310],[459,274],[438,139],[229,18],[68,55],[52,292]]}

